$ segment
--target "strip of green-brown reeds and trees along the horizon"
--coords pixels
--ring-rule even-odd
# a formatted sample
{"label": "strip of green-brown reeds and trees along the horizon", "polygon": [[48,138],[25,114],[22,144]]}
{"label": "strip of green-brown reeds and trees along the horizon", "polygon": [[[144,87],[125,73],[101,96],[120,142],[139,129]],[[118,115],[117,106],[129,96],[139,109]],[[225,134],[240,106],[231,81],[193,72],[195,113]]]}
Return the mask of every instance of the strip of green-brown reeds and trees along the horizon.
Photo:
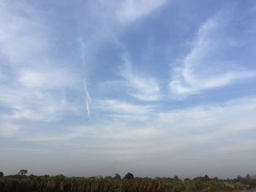
{"label": "strip of green-brown reeds and trees along the horizon", "polygon": [[192,180],[189,178],[181,180],[178,177],[152,179],[133,177],[131,173],[127,173],[124,179],[121,179],[119,174],[105,178],[65,177],[62,174],[54,177],[15,174],[0,178],[1,192],[220,192],[241,191],[247,185],[256,187],[256,179],[238,176],[235,180],[219,180],[217,177],[209,178],[207,175]]}

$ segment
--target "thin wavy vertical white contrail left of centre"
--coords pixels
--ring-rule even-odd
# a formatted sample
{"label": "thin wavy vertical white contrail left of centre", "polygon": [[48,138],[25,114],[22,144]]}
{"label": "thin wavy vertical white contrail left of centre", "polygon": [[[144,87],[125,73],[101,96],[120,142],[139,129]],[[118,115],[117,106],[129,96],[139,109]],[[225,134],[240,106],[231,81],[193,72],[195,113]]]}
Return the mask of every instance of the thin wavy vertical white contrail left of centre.
{"label": "thin wavy vertical white contrail left of centre", "polygon": [[[80,38],[80,42],[81,42],[81,49],[82,49],[82,62],[83,62],[83,69],[85,69],[86,66],[86,54],[85,54],[85,45],[83,42],[83,39]],[[89,91],[87,88],[87,82],[86,82],[86,78],[83,80],[83,90],[86,93],[86,110],[87,110],[87,115],[90,118],[91,115],[91,111],[90,111],[90,104],[91,104],[91,96],[89,95]]]}

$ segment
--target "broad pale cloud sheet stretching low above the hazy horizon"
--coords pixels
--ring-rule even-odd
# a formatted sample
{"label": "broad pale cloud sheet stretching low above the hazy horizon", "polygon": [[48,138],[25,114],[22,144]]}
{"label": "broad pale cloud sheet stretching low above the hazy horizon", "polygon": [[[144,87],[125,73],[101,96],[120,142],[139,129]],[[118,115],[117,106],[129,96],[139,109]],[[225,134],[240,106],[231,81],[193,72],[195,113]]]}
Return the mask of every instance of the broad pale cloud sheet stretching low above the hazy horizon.
{"label": "broad pale cloud sheet stretching low above the hazy horizon", "polygon": [[[105,159],[104,166],[109,166],[106,161],[112,164],[129,161],[131,168],[140,163],[146,164],[145,167],[154,167],[157,161],[162,166],[158,166],[156,171],[161,169],[162,172],[165,172],[167,166],[172,167],[171,170],[175,169],[177,164],[189,169],[187,159],[192,159],[191,164],[198,170],[208,170],[209,165],[215,165],[213,158],[221,162],[227,159],[227,162],[222,162],[224,165],[230,165],[230,162],[238,164],[244,161],[241,154],[253,154],[255,150],[255,139],[252,137],[256,130],[255,97],[162,112],[146,109],[135,113],[137,119],[113,116],[116,113],[131,117],[133,111],[140,111],[141,107],[143,109],[143,105],[134,105],[127,102],[123,105],[121,101],[103,101],[103,114],[98,113],[97,120],[86,126],[63,125],[58,128],[61,132],[57,133],[48,132],[46,127],[40,131],[31,128],[25,133],[19,131],[18,134],[12,134],[12,137],[17,141],[34,142],[34,146],[39,144],[39,151],[47,148],[40,146],[51,145],[53,153],[56,150],[63,151],[64,155],[72,152],[79,157],[83,155],[80,159],[88,156],[98,159],[100,156]],[[144,116],[148,118],[144,120]],[[246,160],[251,163],[253,158],[248,155]],[[77,164],[77,159],[70,161]],[[91,162],[95,164],[94,160]],[[206,168],[202,168],[202,165]],[[220,169],[218,171],[221,168],[217,166]],[[178,167],[176,172],[180,170],[181,167]],[[198,171],[191,169],[191,172],[193,175]],[[213,172],[209,169],[207,174]]]}

